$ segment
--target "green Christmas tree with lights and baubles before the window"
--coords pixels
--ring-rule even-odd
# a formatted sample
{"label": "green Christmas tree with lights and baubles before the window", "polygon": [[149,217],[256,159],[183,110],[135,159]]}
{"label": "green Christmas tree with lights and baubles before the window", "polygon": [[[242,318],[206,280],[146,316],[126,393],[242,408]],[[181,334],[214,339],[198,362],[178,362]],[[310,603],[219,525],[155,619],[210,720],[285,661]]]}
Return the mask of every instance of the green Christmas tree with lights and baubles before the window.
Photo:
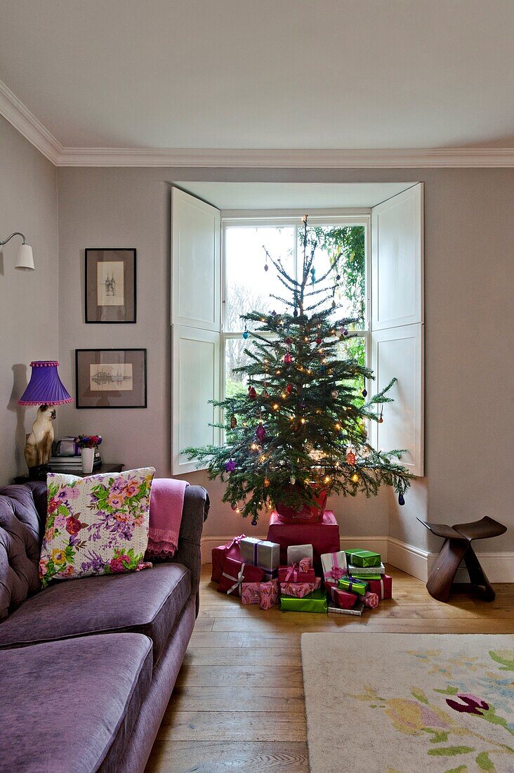
{"label": "green Christmas tree with lights and baubles before the window", "polygon": [[280,502],[301,510],[316,505],[320,492],[370,496],[389,485],[402,505],[414,477],[398,461],[401,451],[376,451],[367,440],[366,421],[383,421],[395,380],[367,399],[373,372],[340,345],[359,320],[334,318],[341,254],[333,254],[328,271],[316,278],[318,240],[307,216],[302,220],[298,278],[265,250],[264,268],[269,261],[288,291],[287,298],[272,297],[287,311],[242,317],[247,364],[237,371],[247,376],[248,393],[215,402],[225,417],[216,426],[226,442],[185,450],[206,464],[209,478],[226,482],[223,501],[251,516],[253,525],[264,508]]}

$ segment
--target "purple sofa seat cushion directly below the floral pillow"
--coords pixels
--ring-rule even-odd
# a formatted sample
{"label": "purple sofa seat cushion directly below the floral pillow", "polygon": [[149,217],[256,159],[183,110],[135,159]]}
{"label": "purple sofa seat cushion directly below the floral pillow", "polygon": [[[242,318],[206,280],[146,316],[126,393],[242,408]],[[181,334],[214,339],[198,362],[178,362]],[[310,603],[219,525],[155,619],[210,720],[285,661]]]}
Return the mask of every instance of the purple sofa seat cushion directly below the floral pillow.
{"label": "purple sofa seat cushion directly below the floral pillow", "polygon": [[190,594],[189,570],[182,564],[54,583],[0,625],[0,647],[131,631],[151,638],[155,665]]}

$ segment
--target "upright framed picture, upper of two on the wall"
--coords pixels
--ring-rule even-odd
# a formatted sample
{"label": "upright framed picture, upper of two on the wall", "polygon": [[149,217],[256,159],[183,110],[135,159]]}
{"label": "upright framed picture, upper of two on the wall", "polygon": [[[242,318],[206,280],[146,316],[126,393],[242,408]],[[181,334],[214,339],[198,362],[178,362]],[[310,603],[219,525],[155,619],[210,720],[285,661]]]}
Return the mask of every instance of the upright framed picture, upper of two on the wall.
{"label": "upright framed picture, upper of two on the wall", "polygon": [[86,322],[136,321],[135,250],[86,250]]}

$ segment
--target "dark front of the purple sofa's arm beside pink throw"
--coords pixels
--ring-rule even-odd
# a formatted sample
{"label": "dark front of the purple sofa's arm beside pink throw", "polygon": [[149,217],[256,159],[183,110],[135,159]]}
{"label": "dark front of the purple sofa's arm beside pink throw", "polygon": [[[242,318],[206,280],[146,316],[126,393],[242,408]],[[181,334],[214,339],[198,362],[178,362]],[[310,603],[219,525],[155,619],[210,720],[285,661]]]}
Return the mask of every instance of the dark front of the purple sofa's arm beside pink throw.
{"label": "dark front of the purple sofa's arm beside pink throw", "polygon": [[[200,485],[189,485],[184,493],[179,547],[171,561],[184,564],[191,572],[191,593],[198,593],[202,572],[203,523],[209,513],[209,494]],[[167,559],[170,560],[170,559]]]}

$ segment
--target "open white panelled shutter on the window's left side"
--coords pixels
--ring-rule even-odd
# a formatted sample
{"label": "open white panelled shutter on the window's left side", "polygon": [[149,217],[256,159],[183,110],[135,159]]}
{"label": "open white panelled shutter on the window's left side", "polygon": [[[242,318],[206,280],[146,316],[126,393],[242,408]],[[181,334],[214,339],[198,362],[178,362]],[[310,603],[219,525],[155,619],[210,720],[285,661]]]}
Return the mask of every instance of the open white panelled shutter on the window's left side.
{"label": "open white panelled shutter on the window's left side", "polygon": [[184,448],[220,443],[220,210],[172,189],[172,473]]}

